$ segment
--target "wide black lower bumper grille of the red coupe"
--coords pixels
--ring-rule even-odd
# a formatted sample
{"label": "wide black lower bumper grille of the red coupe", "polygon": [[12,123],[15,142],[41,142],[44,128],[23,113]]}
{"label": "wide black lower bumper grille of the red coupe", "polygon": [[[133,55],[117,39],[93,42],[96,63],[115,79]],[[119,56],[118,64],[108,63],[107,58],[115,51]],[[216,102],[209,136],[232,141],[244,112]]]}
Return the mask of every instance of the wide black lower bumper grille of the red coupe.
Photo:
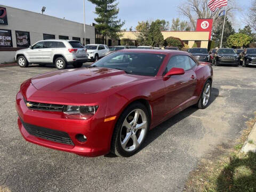
{"label": "wide black lower bumper grille of the red coupe", "polygon": [[66,132],[47,129],[47,128],[39,127],[36,125],[31,125],[23,122],[22,120],[21,120],[21,123],[25,127],[27,132],[31,135],[34,135],[35,137],[54,141],[54,142],[64,143],[67,145],[74,145],[73,141],[70,139],[68,133]]}

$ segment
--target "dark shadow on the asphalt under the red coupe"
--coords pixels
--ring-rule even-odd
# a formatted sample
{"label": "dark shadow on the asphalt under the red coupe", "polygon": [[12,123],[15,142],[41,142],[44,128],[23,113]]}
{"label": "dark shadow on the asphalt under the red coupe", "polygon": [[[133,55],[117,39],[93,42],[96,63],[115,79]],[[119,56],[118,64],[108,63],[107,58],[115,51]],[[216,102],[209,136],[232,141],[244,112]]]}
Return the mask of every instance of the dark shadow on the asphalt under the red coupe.
{"label": "dark shadow on the asphalt under the red coupe", "polygon": [[[209,105],[219,96],[219,89],[212,87],[212,94],[209,101]],[[143,148],[147,147],[151,142],[156,140],[159,136],[161,136],[167,129],[171,128],[174,124],[182,121],[182,119],[190,116],[191,114],[195,113],[198,110],[195,106],[188,107],[187,109],[181,111],[179,114],[174,115],[173,117],[167,119],[165,122],[161,123],[160,125],[156,126],[153,130],[148,132],[147,138],[145,139],[144,143],[141,146]],[[107,154],[105,157],[116,157],[113,154]]]}

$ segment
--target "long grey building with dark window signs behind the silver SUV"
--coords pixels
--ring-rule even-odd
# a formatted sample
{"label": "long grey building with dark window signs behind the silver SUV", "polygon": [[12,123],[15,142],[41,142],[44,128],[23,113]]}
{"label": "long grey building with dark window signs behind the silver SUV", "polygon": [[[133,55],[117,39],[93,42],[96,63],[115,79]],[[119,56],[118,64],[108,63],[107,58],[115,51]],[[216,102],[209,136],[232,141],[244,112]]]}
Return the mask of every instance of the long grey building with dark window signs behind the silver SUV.
{"label": "long grey building with dark window signs behind the silver SUV", "polygon": [[[95,27],[85,25],[85,36],[86,44],[95,43]],[[14,61],[15,51],[19,49],[54,38],[73,39],[84,44],[84,25],[0,5],[0,63]]]}

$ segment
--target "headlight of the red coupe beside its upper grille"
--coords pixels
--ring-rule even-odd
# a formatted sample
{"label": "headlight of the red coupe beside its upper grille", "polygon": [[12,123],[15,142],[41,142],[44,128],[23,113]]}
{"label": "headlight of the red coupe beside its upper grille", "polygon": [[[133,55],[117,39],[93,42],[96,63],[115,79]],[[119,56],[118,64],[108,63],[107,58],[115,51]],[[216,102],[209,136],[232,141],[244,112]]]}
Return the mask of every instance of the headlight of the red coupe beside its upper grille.
{"label": "headlight of the red coupe beside its upper grille", "polygon": [[97,111],[99,106],[65,106],[63,113],[66,118],[89,119]]}

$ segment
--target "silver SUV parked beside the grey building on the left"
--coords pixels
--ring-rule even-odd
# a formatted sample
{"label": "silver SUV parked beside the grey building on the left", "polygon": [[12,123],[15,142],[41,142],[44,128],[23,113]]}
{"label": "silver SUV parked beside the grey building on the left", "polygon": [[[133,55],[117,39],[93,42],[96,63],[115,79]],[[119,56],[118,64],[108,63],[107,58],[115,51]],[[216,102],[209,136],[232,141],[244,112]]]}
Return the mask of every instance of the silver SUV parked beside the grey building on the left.
{"label": "silver SUV parked beside the grey building on the left", "polygon": [[27,67],[29,63],[54,63],[57,69],[65,69],[69,64],[82,67],[83,62],[88,60],[88,54],[79,41],[48,39],[17,51],[15,60],[20,67]]}

